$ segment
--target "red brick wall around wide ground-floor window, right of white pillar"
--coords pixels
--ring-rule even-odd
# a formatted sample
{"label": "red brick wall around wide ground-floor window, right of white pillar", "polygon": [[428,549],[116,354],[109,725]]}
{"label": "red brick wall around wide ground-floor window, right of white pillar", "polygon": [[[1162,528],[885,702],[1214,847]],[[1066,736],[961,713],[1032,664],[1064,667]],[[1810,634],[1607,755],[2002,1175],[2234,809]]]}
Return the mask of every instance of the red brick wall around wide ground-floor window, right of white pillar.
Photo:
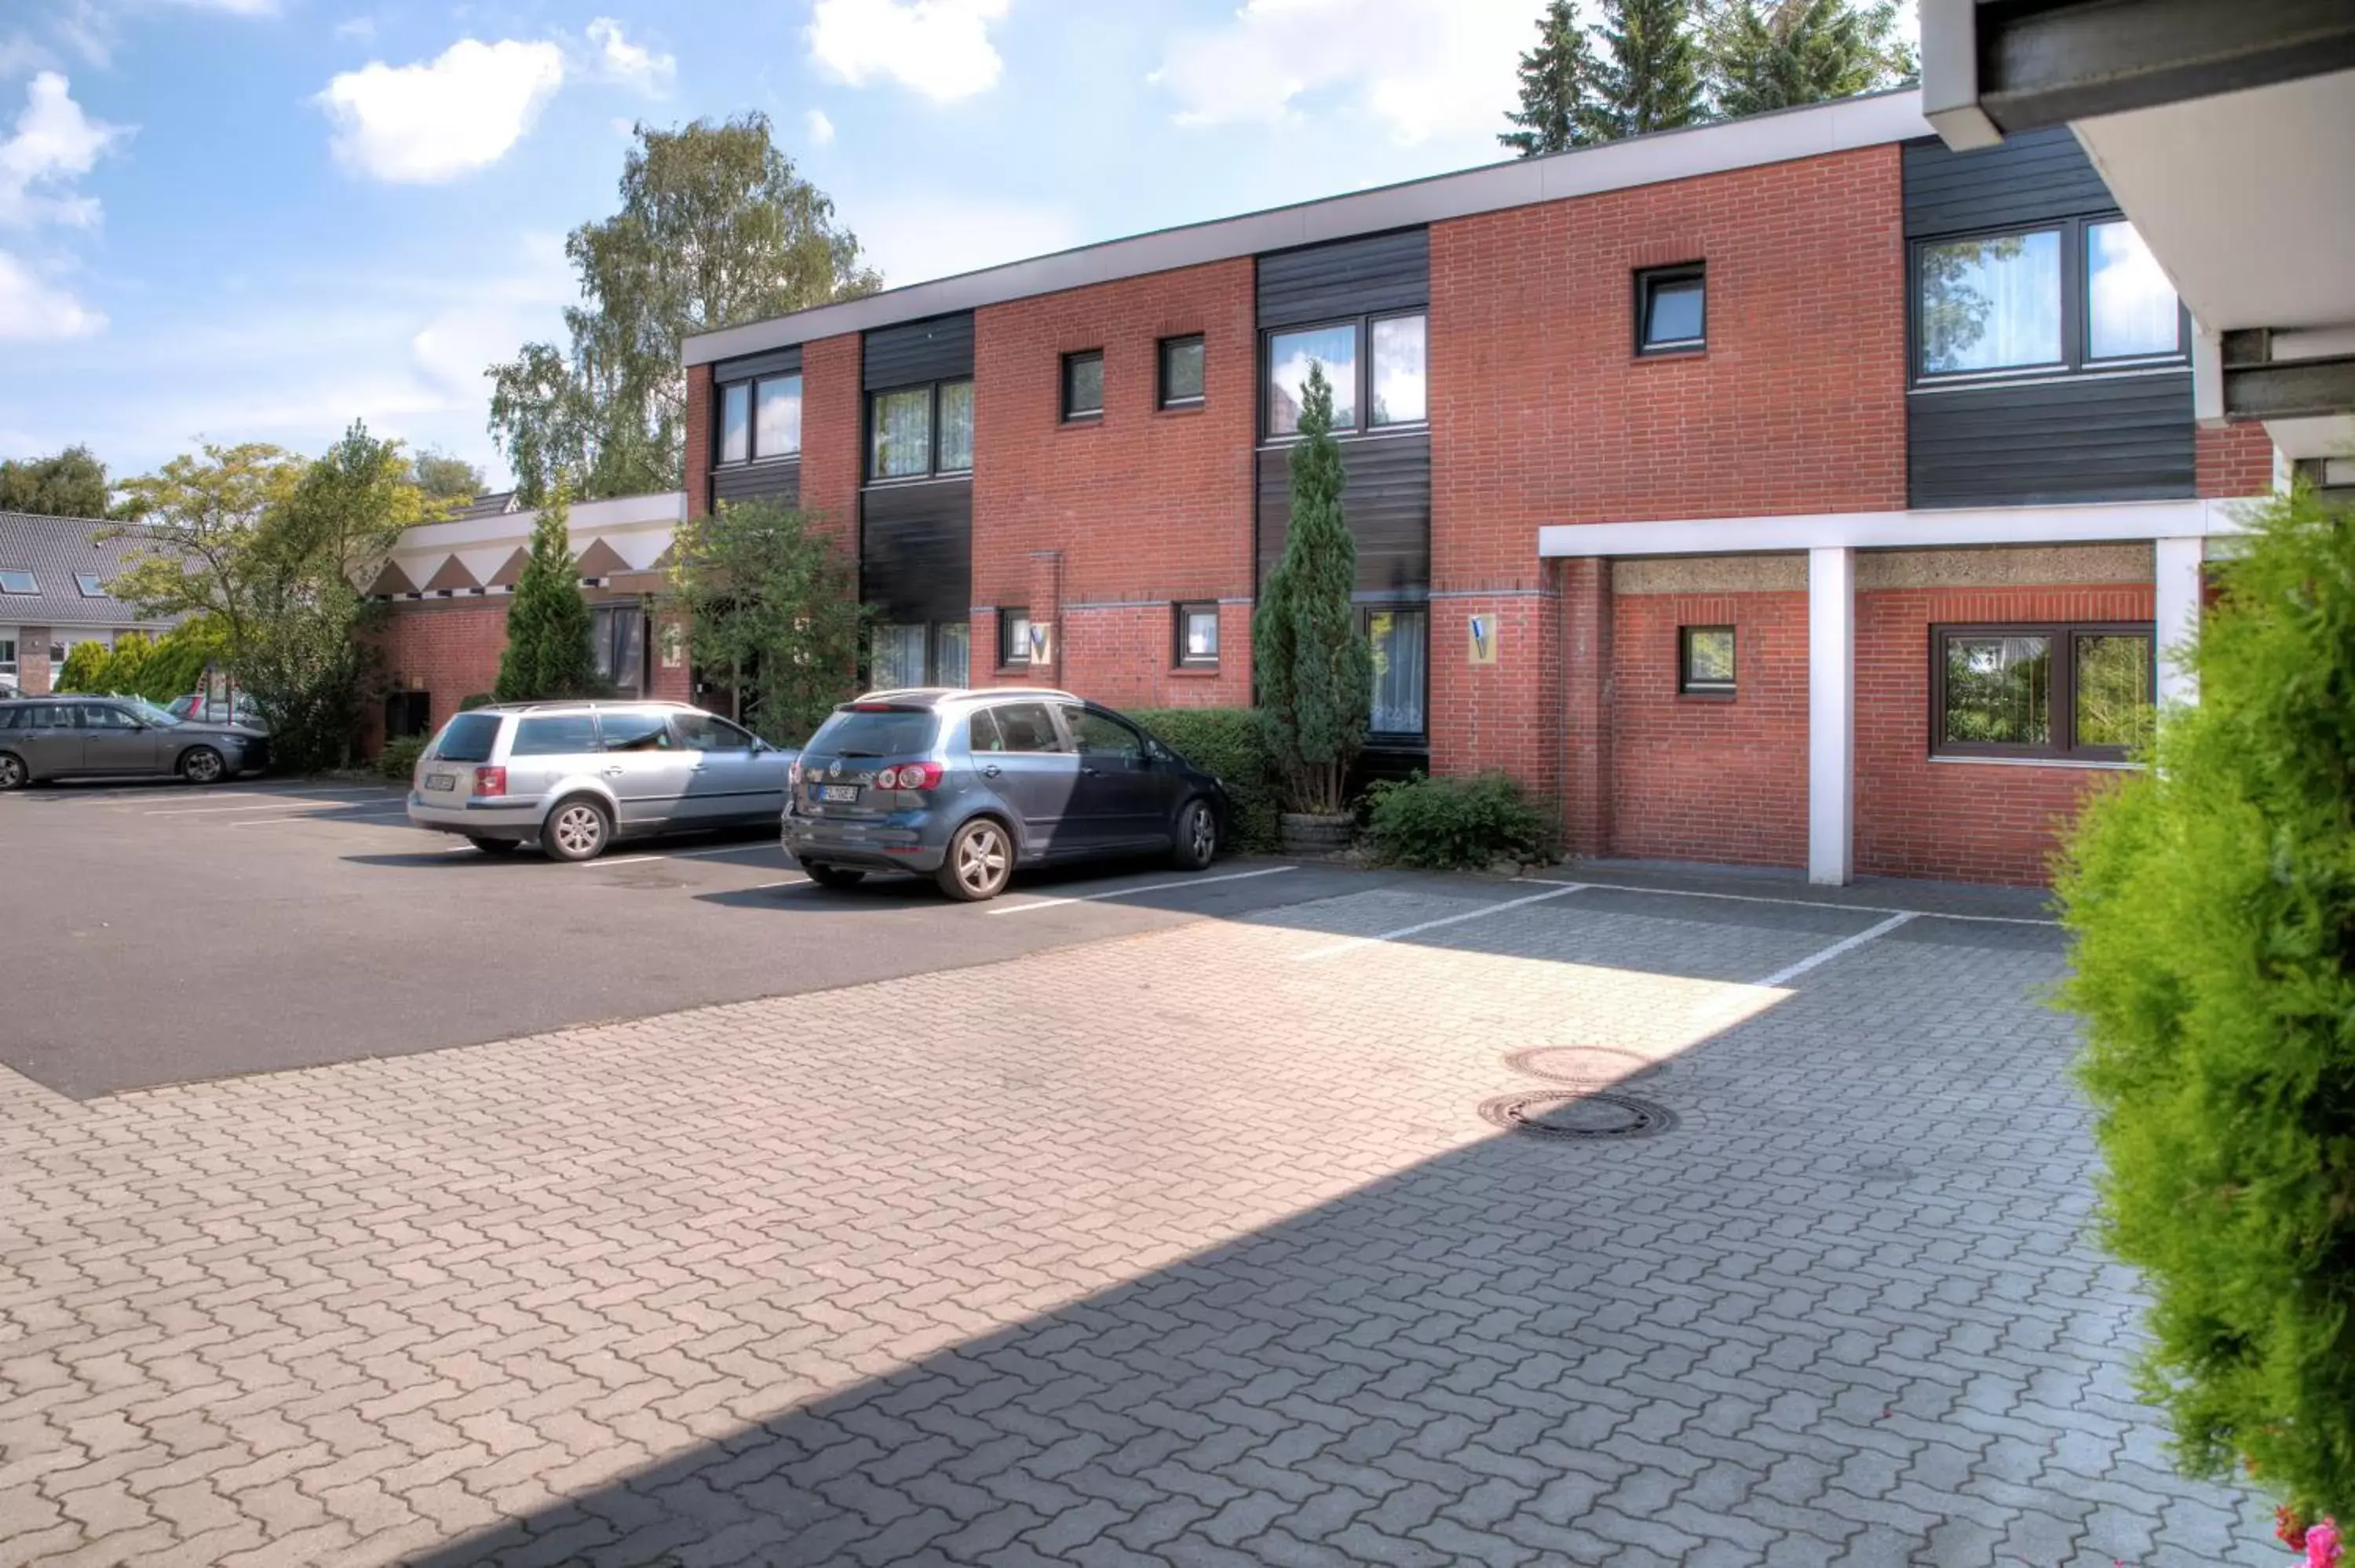
{"label": "red brick wall around wide ground-floor window, right of white pillar", "polygon": [[2098,768],[1929,760],[1929,629],[2148,622],[2150,584],[1884,589],[1856,596],[1856,871],[2039,885]]}

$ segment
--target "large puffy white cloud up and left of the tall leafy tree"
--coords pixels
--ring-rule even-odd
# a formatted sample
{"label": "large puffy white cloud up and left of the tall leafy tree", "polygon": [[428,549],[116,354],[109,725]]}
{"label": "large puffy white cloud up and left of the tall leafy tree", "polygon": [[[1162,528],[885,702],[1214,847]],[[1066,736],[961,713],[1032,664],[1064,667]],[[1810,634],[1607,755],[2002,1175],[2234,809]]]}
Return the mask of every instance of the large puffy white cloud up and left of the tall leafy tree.
{"label": "large puffy white cloud up and left of the tall leafy tree", "polygon": [[532,129],[565,80],[551,42],[462,38],[419,66],[370,61],[318,94],[334,155],[374,179],[436,184],[485,170]]}

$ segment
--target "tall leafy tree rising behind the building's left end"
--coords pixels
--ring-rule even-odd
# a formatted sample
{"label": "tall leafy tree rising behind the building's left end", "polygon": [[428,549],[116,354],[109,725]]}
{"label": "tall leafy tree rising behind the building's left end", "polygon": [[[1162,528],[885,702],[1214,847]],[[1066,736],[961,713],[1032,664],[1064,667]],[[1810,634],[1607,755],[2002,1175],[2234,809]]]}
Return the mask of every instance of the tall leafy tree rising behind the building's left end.
{"label": "tall leafy tree rising behind the building's left end", "polygon": [[558,478],[582,499],[676,490],[683,337],[881,287],[834,202],[777,151],[768,115],[636,134],[622,210],[565,240],[582,285],[565,311],[570,353],[525,344],[487,372],[490,433],[528,506]]}

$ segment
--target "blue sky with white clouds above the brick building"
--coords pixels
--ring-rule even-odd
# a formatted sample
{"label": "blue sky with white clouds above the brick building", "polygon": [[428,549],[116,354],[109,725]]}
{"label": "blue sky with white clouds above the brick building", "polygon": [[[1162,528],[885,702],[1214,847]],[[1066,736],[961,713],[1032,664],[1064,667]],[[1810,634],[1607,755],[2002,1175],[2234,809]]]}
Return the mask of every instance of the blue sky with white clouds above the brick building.
{"label": "blue sky with white clouds above the brick building", "polygon": [[1538,0],[0,0],[0,457],[502,469],[636,118],[765,111],[888,283],[1493,160]]}

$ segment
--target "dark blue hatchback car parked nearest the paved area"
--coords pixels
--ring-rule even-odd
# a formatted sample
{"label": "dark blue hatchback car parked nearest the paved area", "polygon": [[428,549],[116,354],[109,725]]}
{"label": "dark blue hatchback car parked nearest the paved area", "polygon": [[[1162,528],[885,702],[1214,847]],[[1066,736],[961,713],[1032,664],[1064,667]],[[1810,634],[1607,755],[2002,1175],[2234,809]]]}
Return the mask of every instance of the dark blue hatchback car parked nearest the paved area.
{"label": "dark blue hatchback car parked nearest the paved area", "polygon": [[812,881],[916,871],[989,899],[1015,866],[1218,855],[1227,789],[1112,709],[1069,692],[869,692],[794,763],[784,848]]}

